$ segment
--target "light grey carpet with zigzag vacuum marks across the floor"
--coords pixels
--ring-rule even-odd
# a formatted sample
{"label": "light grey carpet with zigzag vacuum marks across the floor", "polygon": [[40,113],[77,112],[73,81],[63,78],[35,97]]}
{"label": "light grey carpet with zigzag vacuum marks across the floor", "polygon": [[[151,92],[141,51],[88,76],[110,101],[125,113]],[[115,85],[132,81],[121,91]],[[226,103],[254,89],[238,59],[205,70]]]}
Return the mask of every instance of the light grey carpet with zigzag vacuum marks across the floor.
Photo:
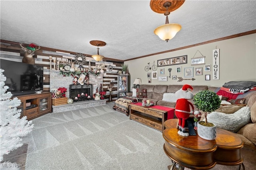
{"label": "light grey carpet with zigzag vacuum marks across the floor", "polygon": [[33,119],[26,170],[165,170],[162,133],[114,111],[113,103]]}

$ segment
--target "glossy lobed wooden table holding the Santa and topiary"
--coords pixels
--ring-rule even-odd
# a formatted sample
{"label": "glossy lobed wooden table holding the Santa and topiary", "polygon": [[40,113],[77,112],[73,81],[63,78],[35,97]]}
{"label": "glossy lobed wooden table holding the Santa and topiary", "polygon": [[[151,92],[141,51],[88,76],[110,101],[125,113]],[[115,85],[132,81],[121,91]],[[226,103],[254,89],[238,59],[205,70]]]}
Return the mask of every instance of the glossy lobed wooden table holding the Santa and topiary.
{"label": "glossy lobed wooden table holding the Santa and topiary", "polygon": [[198,135],[183,137],[178,135],[178,119],[165,121],[163,132],[164,152],[172,159],[172,166],[180,165],[180,169],[211,169],[215,164],[244,168],[241,148],[242,140],[234,133],[217,128],[216,139],[208,141]]}

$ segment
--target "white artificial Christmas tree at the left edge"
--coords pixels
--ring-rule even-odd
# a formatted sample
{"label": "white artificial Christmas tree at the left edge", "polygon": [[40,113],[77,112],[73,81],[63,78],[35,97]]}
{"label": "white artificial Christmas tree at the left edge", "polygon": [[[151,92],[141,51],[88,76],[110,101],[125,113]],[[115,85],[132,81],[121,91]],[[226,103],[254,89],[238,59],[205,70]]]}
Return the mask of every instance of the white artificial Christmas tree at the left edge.
{"label": "white artificial Christmas tree at the left edge", "polygon": [[5,86],[6,77],[4,70],[0,68],[0,160],[4,154],[10,153],[23,145],[22,139],[30,133],[34,127],[32,121],[27,121],[24,116],[20,119],[21,102],[18,98],[13,98],[11,92],[6,92],[9,88]]}

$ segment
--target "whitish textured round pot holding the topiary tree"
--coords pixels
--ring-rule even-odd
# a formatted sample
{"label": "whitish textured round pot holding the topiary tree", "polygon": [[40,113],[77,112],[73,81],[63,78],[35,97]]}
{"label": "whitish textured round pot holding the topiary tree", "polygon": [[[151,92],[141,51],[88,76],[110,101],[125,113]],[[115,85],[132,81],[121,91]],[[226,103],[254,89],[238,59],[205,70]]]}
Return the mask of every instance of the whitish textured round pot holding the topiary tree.
{"label": "whitish textured round pot holding the topiary tree", "polygon": [[216,126],[208,127],[200,124],[201,121],[197,122],[197,134],[203,139],[214,140],[216,138]]}

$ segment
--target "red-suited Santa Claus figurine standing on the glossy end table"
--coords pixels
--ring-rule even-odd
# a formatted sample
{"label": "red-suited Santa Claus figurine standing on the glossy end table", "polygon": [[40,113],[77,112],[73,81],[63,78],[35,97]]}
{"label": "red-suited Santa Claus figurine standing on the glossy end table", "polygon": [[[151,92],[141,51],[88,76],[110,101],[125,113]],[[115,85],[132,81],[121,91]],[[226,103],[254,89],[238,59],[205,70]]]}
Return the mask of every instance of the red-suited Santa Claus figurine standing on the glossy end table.
{"label": "red-suited Santa Claus figurine standing on the glossy end table", "polygon": [[[185,84],[180,90],[175,93],[175,96],[178,98],[175,106],[175,114],[179,119],[179,131],[178,134],[181,136],[188,136],[188,132],[185,130],[186,119],[190,115],[195,115],[195,117],[200,117],[201,113],[199,111],[194,111],[194,106],[188,100],[194,98],[192,92],[188,91],[188,88],[193,90],[192,86]],[[190,109],[191,107],[191,109]]]}

